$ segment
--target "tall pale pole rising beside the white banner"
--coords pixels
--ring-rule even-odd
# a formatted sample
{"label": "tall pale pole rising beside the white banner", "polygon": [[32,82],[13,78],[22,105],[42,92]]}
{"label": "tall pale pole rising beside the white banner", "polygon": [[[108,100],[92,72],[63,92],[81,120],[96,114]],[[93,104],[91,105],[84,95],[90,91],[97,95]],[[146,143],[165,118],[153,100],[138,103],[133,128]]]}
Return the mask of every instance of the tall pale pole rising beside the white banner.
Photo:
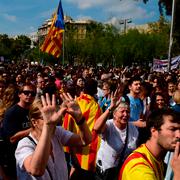
{"label": "tall pale pole rising beside the white banner", "polygon": [[171,50],[173,44],[173,27],[174,27],[174,11],[175,11],[175,1],[172,2],[172,18],[171,18],[171,29],[170,29],[170,36],[169,36],[169,50],[168,50],[168,72],[171,71]]}

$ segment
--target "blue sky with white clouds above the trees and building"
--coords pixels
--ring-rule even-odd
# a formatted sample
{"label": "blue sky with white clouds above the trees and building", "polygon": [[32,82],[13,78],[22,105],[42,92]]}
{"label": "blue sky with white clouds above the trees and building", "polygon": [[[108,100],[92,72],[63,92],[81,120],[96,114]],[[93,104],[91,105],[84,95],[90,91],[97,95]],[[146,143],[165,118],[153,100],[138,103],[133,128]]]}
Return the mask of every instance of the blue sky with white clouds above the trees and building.
{"label": "blue sky with white clouds above the trees and building", "polygon": [[[59,0],[0,0],[0,34],[17,35],[37,31],[55,11]],[[136,0],[62,0],[64,14],[74,20],[93,19],[117,24],[131,18],[134,24],[159,19],[157,0],[145,5]]]}

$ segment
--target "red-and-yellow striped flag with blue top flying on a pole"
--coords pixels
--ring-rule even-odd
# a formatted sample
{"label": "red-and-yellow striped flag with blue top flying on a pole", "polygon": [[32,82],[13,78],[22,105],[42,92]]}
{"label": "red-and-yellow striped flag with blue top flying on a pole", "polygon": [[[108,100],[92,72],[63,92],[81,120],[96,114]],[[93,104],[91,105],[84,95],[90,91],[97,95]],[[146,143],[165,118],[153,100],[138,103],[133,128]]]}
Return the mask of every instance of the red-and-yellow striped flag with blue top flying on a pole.
{"label": "red-and-yellow striped flag with blue top flying on a pole", "polygon": [[57,13],[54,15],[49,32],[41,46],[41,51],[59,57],[63,46],[64,15],[59,1]]}

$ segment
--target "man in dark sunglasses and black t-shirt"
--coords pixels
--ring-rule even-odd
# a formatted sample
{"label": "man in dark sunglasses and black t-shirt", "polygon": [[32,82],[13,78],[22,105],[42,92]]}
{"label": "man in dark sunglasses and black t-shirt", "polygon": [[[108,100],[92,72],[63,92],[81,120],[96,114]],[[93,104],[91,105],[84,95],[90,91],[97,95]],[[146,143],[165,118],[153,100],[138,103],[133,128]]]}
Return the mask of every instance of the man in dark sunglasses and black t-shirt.
{"label": "man in dark sunglasses and black t-shirt", "polygon": [[29,134],[30,120],[28,118],[30,105],[36,96],[36,88],[32,84],[25,84],[19,89],[19,102],[9,108],[3,119],[2,136],[6,142],[7,159],[4,171],[10,179],[16,179],[16,161],[14,152],[18,141]]}

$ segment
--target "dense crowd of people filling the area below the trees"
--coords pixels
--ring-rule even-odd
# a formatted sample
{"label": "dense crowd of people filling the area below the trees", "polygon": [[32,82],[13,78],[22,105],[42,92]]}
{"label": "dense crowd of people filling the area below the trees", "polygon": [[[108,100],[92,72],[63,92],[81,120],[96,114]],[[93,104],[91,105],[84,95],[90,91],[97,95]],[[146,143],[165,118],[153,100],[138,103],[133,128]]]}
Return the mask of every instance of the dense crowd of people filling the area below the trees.
{"label": "dense crowd of people filling the area below the trees", "polygon": [[0,179],[177,180],[180,70],[0,64]]}

